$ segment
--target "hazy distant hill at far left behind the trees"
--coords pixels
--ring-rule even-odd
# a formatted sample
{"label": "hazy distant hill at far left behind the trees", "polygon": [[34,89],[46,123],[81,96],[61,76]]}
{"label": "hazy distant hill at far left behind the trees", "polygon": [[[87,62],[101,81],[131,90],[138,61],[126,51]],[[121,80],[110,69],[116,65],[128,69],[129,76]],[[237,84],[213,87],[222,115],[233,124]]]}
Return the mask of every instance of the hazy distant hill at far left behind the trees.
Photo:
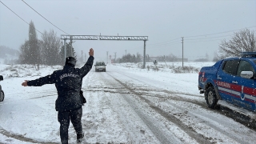
{"label": "hazy distant hill at far left behind the trees", "polygon": [[14,64],[18,60],[18,50],[11,49],[7,46],[0,46],[0,63]]}

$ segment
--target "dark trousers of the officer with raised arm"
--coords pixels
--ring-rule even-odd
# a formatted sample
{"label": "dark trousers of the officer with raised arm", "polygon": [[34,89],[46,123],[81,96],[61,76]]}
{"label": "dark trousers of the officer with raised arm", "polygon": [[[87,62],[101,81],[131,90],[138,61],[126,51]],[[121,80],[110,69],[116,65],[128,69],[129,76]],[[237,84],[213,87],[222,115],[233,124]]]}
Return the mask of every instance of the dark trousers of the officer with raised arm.
{"label": "dark trousers of the officer with raised arm", "polygon": [[58,122],[60,123],[60,137],[62,144],[68,143],[70,120],[77,134],[82,134],[82,108],[70,111],[59,111]]}

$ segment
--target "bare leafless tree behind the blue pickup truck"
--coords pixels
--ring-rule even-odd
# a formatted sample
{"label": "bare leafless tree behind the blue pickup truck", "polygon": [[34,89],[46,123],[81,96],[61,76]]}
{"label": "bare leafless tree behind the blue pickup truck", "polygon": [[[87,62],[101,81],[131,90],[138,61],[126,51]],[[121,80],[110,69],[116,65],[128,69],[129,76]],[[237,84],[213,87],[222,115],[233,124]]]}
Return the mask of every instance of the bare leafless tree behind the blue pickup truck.
{"label": "bare leafless tree behind the blue pickup truck", "polygon": [[234,33],[230,41],[224,39],[219,45],[219,58],[239,56],[241,52],[255,51],[256,37],[254,30],[240,30]]}

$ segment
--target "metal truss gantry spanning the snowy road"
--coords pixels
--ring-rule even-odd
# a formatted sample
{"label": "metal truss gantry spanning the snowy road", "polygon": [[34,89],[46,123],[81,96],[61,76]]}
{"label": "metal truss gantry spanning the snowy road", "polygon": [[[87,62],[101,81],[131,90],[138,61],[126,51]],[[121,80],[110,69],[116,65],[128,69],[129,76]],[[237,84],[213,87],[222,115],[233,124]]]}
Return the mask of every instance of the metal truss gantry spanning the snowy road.
{"label": "metal truss gantry spanning the snowy road", "polygon": [[[146,67],[146,41],[148,36],[110,36],[110,35],[61,35],[61,39],[64,40],[64,56],[66,58],[66,40],[70,40],[71,44],[73,40],[102,40],[102,41],[143,41],[144,42],[144,54],[143,54],[143,69]],[[72,46],[71,46],[72,47]],[[73,53],[71,53],[73,54]],[[71,55],[72,56],[72,55]]]}

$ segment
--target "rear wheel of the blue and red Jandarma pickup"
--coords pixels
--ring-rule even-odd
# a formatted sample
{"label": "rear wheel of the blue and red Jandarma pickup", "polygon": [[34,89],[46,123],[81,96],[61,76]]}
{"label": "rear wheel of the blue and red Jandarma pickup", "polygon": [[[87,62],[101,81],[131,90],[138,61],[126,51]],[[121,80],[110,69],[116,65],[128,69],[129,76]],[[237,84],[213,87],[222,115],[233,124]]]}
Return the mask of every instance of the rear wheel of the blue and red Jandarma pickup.
{"label": "rear wheel of the blue and red Jandarma pickup", "polygon": [[206,90],[206,103],[207,103],[207,106],[212,108],[212,109],[218,109],[219,106],[218,106],[217,102],[218,102],[218,99],[217,99],[217,96],[215,94],[214,87],[210,86]]}

